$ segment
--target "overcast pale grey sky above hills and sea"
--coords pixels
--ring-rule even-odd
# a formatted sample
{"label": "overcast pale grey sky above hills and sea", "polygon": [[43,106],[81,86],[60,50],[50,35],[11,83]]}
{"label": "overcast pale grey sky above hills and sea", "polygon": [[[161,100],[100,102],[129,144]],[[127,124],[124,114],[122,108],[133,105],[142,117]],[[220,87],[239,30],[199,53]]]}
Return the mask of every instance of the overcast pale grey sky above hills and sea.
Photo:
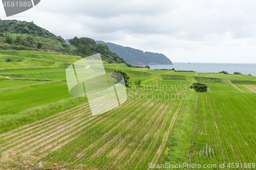
{"label": "overcast pale grey sky above hills and sea", "polygon": [[90,37],[175,62],[256,63],[256,1],[42,0],[2,19],[33,21],[64,39]]}

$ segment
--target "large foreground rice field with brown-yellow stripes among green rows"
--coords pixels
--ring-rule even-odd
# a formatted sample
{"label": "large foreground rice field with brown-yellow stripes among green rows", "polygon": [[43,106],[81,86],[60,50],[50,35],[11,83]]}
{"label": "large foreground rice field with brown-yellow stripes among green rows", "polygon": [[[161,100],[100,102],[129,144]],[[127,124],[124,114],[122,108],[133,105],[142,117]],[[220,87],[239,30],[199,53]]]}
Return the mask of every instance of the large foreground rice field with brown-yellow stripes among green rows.
{"label": "large foreground rice field with brown-yellow stripes among green rows", "polygon": [[169,92],[177,96],[172,100],[152,98],[163,91],[129,94],[121,107],[100,115],[92,116],[85,103],[0,135],[0,162],[27,169],[146,169],[163,152],[186,91]]}

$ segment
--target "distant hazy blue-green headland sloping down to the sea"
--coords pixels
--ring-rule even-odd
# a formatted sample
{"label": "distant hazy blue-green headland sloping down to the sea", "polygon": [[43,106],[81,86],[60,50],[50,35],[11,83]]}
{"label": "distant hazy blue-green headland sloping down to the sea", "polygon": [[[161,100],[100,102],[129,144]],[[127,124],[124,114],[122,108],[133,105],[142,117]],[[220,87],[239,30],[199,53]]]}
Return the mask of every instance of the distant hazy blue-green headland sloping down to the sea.
{"label": "distant hazy blue-green headland sloping down to the sea", "polygon": [[173,64],[165,55],[159,53],[143,52],[131,47],[124,47],[111,42],[96,41],[97,43],[106,44],[110,51],[116,53],[127,63],[132,65],[157,65],[157,64]]}

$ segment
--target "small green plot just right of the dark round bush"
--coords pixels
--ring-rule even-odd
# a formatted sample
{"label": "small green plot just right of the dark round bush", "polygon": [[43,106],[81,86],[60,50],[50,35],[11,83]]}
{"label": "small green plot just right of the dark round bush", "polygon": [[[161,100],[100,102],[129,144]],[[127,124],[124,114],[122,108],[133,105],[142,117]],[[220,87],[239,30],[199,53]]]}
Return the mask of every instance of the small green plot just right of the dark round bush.
{"label": "small green plot just right of the dark round bush", "polygon": [[210,92],[239,92],[236,88],[232,87],[230,84],[224,83],[207,83],[210,88]]}

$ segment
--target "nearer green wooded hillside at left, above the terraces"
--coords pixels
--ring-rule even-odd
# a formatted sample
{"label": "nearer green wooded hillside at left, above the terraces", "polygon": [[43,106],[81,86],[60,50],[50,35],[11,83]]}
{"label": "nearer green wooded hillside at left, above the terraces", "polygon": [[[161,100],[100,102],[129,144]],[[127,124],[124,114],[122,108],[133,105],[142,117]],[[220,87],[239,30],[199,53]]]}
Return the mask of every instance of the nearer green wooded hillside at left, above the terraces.
{"label": "nearer green wooded hillside at left, above the terraces", "polygon": [[111,52],[107,45],[96,44],[94,39],[74,37],[70,39],[70,44],[66,44],[61,36],[38,27],[33,21],[0,18],[0,50],[48,51],[81,57],[100,53],[101,58],[108,63],[126,63]]}

